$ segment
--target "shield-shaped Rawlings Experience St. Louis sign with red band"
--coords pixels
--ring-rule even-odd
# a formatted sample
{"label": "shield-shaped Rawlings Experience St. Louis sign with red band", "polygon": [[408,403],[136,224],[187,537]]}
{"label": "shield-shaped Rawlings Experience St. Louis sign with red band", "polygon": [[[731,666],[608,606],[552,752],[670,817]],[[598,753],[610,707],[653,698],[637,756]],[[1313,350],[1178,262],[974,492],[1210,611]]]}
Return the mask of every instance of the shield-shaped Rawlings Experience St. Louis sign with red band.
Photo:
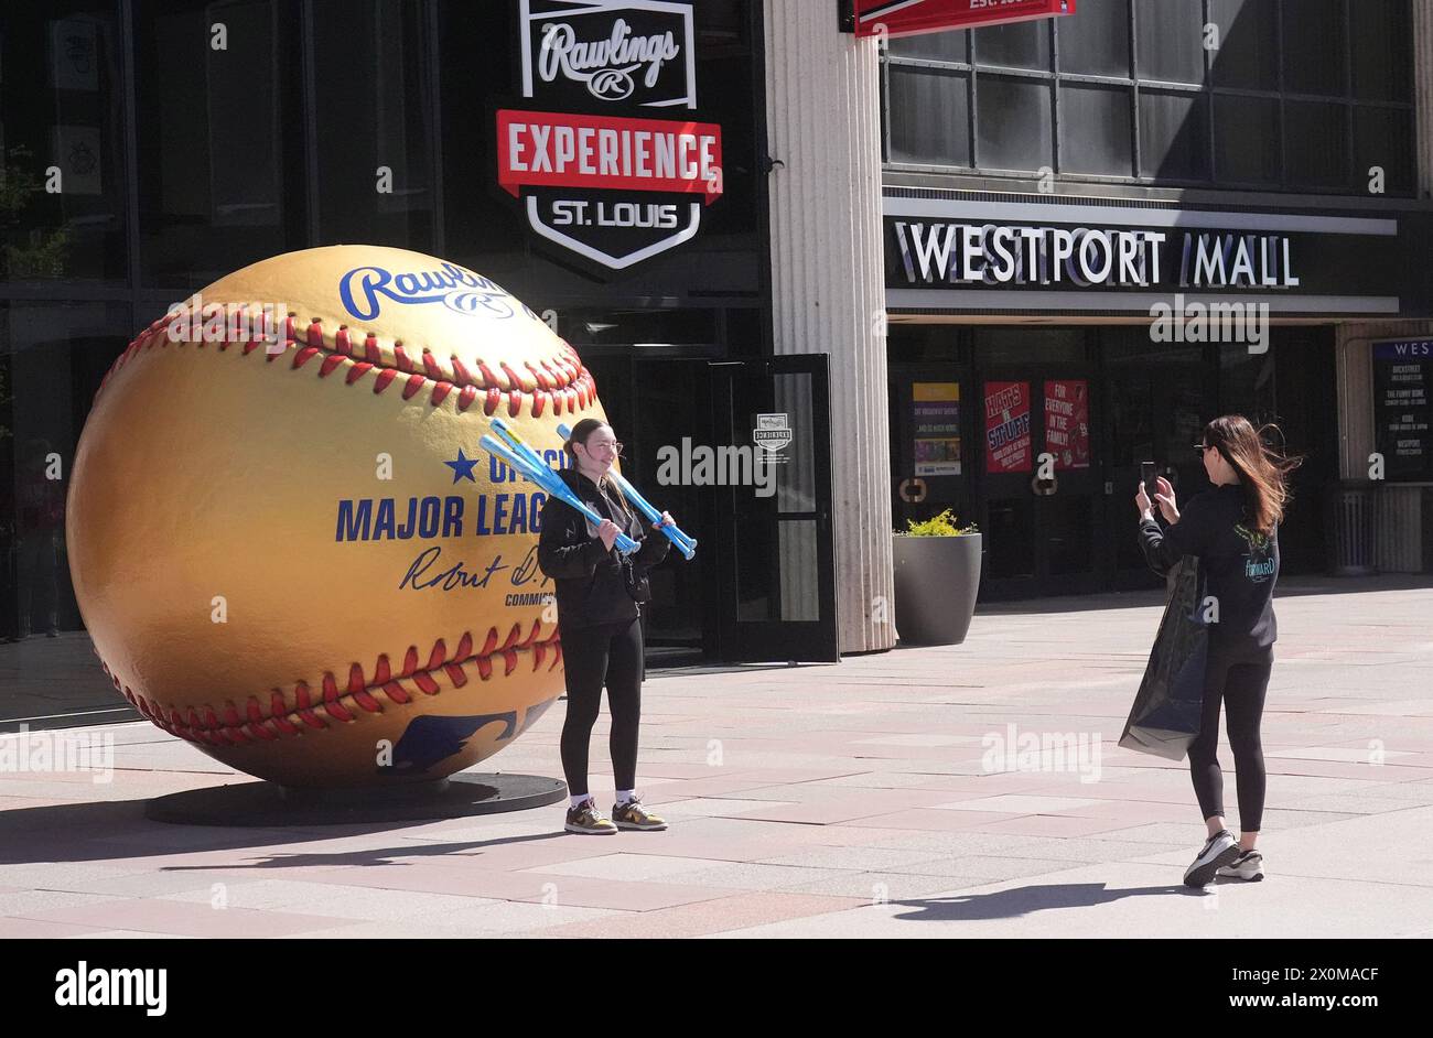
{"label": "shield-shaped Rawlings Experience St. Louis sign with red band", "polygon": [[519,24],[524,102],[496,113],[497,183],[533,233],[599,273],[695,238],[722,140],[694,117],[692,4],[519,0]]}

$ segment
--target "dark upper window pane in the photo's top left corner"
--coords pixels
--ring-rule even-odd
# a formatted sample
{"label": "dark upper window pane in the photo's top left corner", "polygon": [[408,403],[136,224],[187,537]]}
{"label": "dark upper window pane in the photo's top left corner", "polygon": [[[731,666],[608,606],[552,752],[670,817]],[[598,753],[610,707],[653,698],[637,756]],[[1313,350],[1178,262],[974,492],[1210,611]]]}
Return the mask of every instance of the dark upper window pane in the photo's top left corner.
{"label": "dark upper window pane in the photo's top left corner", "polygon": [[80,0],[0,14],[0,281],[128,273],[113,11]]}

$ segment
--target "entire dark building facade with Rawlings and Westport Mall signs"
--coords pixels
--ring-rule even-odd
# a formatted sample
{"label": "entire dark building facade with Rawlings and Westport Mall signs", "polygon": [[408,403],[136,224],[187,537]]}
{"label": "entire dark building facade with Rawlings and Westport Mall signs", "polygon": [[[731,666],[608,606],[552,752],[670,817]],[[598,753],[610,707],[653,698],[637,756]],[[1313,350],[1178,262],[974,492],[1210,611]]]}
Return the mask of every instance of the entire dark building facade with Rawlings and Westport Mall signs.
{"label": "entire dark building facade with Rawlings and Westport Mall signs", "polygon": [[[893,525],[946,507],[987,598],[1149,586],[1139,462],[1195,490],[1225,411],[1307,455],[1291,573],[1433,568],[1433,0],[1101,0],[888,43],[841,7],[7,6],[3,716],[107,703],[63,508],[113,358],[340,242],[492,276],[580,352],[702,543],[653,574],[653,661],[893,647]],[[638,125],[651,162],[550,145]],[[663,448],[759,442],[771,493],[661,477]]]}

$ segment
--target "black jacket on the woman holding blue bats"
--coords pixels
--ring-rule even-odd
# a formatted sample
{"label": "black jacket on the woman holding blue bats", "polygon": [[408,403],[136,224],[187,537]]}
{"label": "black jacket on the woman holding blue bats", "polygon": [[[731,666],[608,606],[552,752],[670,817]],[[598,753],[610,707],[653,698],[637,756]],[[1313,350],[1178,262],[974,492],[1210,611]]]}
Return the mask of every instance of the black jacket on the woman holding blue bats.
{"label": "black jacket on the woman holding blue bats", "polygon": [[557,475],[589,508],[616,523],[628,537],[642,544],[631,558],[623,560],[616,548],[603,548],[602,540],[588,531],[588,520],[582,513],[549,497],[542,508],[537,567],[556,586],[557,624],[570,631],[635,620],[639,610],[628,591],[628,581],[642,580],[648,568],[666,558],[671,541],[665,534],[651,530],[631,505],[631,514],[623,514],[620,505],[625,501],[609,500],[598,490],[598,484],[576,468],[565,468]]}

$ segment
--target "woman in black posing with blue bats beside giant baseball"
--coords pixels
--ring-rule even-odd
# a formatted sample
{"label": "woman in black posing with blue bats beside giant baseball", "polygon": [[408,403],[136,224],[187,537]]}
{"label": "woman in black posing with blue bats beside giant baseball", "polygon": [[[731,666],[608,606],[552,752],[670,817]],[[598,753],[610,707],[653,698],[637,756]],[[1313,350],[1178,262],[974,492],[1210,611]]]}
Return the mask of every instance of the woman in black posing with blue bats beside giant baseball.
{"label": "woman in black posing with blue bats beside giant baseball", "polygon": [[[646,570],[666,557],[669,541],[648,537],[628,508],[610,471],[622,444],[612,427],[583,418],[563,444],[572,461],[559,474],[563,482],[598,515],[592,527],[586,517],[555,497],[542,510],[537,567],[556,586],[557,626],[567,684],[567,717],[562,726],[562,769],[570,803],[565,829],[575,833],[609,835],[618,829],[666,829],[636,795],[638,727],[642,720],[642,621],[646,601]],[[671,525],[662,513],[652,528]],[[641,541],[638,551],[623,558],[613,548],[618,534]],[[592,726],[608,689],[612,710],[612,770],[616,803],[606,818],[588,793],[588,749]]]}

